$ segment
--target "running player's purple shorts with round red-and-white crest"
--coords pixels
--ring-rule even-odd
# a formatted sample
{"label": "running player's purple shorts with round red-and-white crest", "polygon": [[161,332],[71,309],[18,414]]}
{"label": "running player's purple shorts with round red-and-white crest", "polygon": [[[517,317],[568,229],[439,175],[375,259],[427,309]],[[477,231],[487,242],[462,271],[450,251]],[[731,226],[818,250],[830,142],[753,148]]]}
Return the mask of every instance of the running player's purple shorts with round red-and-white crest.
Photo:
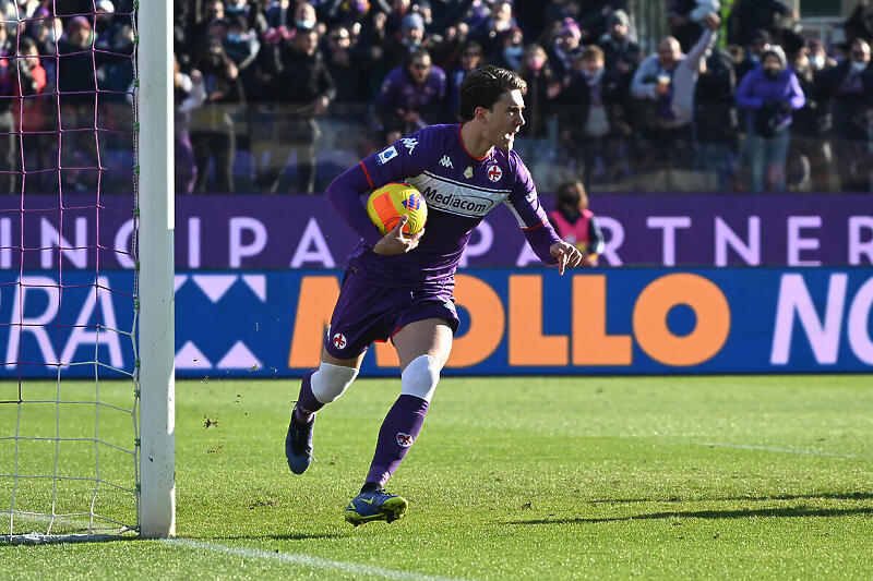
{"label": "running player's purple shorts with round red-and-white crest", "polygon": [[455,332],[459,322],[453,287],[409,291],[346,270],[324,348],[336,359],[354,359],[373,341],[387,341],[404,326],[433,317],[444,318]]}

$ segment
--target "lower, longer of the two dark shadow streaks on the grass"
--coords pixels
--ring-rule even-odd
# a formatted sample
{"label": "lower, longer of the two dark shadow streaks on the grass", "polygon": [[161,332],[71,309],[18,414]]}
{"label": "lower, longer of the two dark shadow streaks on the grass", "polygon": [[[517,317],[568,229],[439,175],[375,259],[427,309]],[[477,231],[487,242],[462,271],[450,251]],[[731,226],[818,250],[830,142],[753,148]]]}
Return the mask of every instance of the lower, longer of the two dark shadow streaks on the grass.
{"label": "lower, longer of the two dark shadow streaks on the grass", "polygon": [[809,508],[809,507],[785,507],[785,508],[761,508],[741,510],[673,510],[670,512],[651,512],[648,515],[632,515],[630,517],[608,517],[602,519],[537,519],[510,521],[507,524],[583,524],[598,522],[622,522],[631,520],[661,520],[661,519],[745,519],[750,517],[849,517],[852,515],[873,515],[872,508]]}

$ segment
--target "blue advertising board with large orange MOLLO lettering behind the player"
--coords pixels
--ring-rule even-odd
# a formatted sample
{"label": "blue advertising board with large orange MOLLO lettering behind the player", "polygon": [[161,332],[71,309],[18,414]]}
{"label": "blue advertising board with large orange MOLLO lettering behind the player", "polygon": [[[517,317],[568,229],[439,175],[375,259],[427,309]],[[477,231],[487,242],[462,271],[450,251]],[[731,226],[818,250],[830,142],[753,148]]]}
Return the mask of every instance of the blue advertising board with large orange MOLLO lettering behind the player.
{"label": "blue advertising board with large orange MOLLO lettering behind the player", "polygon": [[[318,365],[339,276],[177,275],[179,376],[301,376]],[[22,280],[0,286],[0,376],[133,368],[128,273]],[[873,371],[871,269],[473,269],[456,299],[445,375]],[[396,364],[376,343],[362,371]]]}

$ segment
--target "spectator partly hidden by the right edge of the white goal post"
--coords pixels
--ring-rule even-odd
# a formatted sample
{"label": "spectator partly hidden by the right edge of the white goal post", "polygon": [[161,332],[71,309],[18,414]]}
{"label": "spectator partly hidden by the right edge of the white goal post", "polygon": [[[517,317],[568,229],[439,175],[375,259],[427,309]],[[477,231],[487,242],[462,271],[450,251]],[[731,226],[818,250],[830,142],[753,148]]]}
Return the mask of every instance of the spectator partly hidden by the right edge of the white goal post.
{"label": "spectator partly hidden by the right edge of the white goal post", "polygon": [[196,184],[196,165],[191,145],[191,111],[206,100],[203,89],[203,75],[193,70],[190,75],[179,70],[179,60],[174,58],[172,85],[176,100],[176,194],[190,194]]}

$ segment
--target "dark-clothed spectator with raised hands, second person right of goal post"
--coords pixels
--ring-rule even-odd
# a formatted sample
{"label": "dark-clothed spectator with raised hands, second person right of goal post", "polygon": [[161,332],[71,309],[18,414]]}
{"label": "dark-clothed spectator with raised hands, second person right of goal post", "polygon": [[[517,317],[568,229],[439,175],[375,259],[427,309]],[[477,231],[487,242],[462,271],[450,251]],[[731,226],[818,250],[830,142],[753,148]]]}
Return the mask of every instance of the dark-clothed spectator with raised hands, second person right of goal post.
{"label": "dark-clothed spectator with raised hands, second person right of goal post", "polygon": [[214,160],[215,185],[211,190],[232,193],[237,141],[231,112],[244,100],[239,72],[218,39],[210,40],[195,64],[206,92],[205,104],[194,109],[191,118],[191,145],[198,170],[195,191],[206,191],[210,160]]}

